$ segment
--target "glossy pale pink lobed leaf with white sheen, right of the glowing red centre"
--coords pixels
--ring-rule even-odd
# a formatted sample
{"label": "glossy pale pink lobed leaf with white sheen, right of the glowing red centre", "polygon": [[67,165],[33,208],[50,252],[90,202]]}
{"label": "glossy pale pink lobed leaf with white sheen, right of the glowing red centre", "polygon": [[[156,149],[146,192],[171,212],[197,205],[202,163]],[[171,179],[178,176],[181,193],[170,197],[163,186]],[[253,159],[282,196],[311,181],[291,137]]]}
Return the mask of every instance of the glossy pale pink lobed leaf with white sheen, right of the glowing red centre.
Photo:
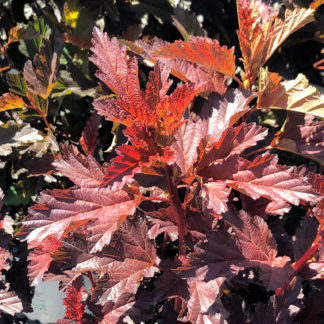
{"label": "glossy pale pink lobed leaf with white sheen, right of the glowing red centre", "polygon": [[[214,156],[215,152],[213,151],[207,159],[209,162],[202,161],[217,141],[219,141],[218,146],[220,146],[222,134],[225,135],[224,132],[249,110],[247,95],[247,93],[238,91],[228,92],[222,100],[218,95],[211,95],[202,108],[201,118],[187,121],[178,130],[175,134],[176,141],[172,147],[175,151],[176,163],[183,175],[190,174],[193,171],[192,168],[197,159],[197,168],[200,170],[204,164],[211,163],[218,158]],[[264,128],[252,125],[239,126],[242,130],[240,131],[237,128],[237,134],[235,134],[235,131],[230,131],[228,142],[224,143],[223,146],[225,152],[218,154],[219,157],[231,153],[234,147],[236,147],[236,151],[233,151],[233,153],[240,153],[265,136],[266,130]],[[215,148],[215,150],[218,150],[218,148]],[[218,152],[220,153],[220,151]]]}

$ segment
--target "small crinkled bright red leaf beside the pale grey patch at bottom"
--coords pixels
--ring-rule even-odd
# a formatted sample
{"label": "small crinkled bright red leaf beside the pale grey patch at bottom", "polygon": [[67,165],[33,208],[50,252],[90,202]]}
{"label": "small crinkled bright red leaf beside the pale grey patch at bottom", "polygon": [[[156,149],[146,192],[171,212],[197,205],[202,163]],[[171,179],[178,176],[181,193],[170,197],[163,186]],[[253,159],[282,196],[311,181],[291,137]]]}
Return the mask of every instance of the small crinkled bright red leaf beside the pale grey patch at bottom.
{"label": "small crinkled bright red leaf beside the pale grey patch at bottom", "polygon": [[63,299],[63,304],[66,306],[65,317],[70,320],[81,323],[82,315],[85,307],[81,302],[83,292],[83,280],[79,276],[66,290],[66,297]]}

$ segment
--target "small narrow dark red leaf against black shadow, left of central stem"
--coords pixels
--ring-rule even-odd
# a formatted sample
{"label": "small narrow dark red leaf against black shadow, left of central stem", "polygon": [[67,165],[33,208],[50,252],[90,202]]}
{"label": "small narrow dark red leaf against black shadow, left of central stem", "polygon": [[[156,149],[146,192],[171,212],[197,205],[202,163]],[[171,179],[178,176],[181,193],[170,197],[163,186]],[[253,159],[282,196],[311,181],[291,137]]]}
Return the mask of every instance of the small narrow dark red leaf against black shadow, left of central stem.
{"label": "small narrow dark red leaf against black shadow, left of central stem", "polygon": [[86,123],[84,131],[79,140],[82,150],[86,155],[93,155],[98,145],[98,127],[100,125],[100,117],[97,114],[91,115]]}

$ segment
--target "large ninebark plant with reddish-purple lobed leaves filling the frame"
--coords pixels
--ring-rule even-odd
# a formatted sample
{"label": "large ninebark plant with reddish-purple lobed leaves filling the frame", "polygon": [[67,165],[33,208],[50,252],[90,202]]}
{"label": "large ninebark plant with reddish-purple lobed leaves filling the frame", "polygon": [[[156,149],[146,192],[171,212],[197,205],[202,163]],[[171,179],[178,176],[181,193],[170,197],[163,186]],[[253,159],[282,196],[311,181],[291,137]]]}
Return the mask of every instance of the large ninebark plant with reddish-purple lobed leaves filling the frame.
{"label": "large ninebark plant with reddish-purple lobed leaves filling the frame", "polygon": [[[322,278],[324,177],[274,153],[324,164],[323,96],[304,75],[286,81],[263,67],[314,11],[279,18],[247,0],[237,8],[240,77],[234,49],[217,40],[122,42],[94,29],[91,60],[111,93],[93,105],[123,125],[127,143],[100,165],[93,116],[84,154],[65,145],[53,163],[74,186],[43,191],[24,222],[30,284],[60,280],[66,291],[58,323],[290,323],[305,306],[301,280]],[[153,65],[143,87],[139,60]],[[172,87],[170,73],[183,83]],[[281,131],[258,125],[261,109],[287,111]],[[300,232],[286,242],[294,253],[278,254],[271,219],[292,206],[313,218],[302,228],[312,234]],[[238,287],[248,285],[264,303],[244,303]]]}

